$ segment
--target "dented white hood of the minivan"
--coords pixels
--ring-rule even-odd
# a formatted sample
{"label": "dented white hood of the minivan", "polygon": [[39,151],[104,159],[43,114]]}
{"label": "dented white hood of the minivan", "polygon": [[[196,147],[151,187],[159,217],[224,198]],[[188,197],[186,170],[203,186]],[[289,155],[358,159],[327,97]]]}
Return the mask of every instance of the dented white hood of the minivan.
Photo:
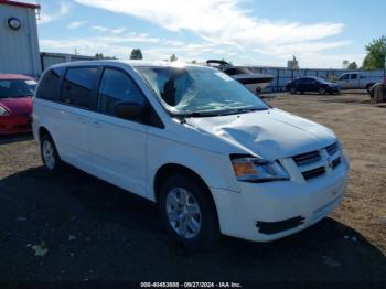
{"label": "dented white hood of the minivan", "polygon": [[266,160],[318,150],[336,140],[324,126],[279,109],[190,118],[187,124]]}

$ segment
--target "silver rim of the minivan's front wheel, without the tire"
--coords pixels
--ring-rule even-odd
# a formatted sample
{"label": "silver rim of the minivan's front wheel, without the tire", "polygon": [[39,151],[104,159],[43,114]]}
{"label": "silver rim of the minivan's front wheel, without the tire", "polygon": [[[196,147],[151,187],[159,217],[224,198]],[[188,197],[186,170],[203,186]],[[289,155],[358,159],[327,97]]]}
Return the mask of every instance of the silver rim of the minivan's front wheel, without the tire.
{"label": "silver rim of the minivan's front wheel, without the tire", "polygon": [[199,235],[202,225],[201,210],[191,192],[174,188],[168,193],[167,214],[175,233],[186,239]]}

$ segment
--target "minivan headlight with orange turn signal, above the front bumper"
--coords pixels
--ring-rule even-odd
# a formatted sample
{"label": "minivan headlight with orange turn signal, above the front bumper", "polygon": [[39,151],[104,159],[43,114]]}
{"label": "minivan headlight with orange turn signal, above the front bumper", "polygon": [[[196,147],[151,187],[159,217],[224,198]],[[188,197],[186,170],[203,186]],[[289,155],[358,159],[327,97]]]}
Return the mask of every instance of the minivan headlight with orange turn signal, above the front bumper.
{"label": "minivan headlight with orange turn signal, above the front bumper", "polygon": [[288,181],[289,174],[277,161],[258,158],[239,158],[232,160],[233,170],[238,181],[271,182]]}

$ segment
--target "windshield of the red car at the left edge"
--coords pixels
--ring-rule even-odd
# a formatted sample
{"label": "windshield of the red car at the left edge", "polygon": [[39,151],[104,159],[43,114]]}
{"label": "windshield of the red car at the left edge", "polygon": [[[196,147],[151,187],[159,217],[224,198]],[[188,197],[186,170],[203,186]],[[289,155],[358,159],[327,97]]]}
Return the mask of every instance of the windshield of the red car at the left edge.
{"label": "windshield of the red car at the left edge", "polygon": [[35,88],[32,79],[0,79],[0,98],[33,96]]}

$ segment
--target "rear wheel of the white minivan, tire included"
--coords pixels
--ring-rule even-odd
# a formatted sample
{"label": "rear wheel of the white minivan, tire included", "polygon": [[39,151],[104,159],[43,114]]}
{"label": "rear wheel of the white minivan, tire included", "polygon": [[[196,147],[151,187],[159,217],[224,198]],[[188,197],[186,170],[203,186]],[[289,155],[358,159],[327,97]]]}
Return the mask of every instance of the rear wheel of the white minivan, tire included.
{"label": "rear wheel of the white minivan, tire included", "polygon": [[41,137],[40,153],[47,172],[51,174],[58,173],[63,163],[57,153],[56,146],[49,133],[44,133]]}

